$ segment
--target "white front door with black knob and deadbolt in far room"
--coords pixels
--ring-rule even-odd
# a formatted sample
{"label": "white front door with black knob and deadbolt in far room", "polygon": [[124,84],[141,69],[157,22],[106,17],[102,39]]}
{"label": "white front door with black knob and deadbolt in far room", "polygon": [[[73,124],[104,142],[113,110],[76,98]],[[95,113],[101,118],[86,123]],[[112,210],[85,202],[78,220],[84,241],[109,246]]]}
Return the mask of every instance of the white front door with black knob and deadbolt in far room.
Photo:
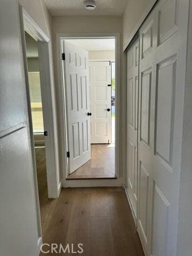
{"label": "white front door with black knob and deadbolt in far room", "polygon": [[90,61],[91,143],[111,143],[111,66]]}

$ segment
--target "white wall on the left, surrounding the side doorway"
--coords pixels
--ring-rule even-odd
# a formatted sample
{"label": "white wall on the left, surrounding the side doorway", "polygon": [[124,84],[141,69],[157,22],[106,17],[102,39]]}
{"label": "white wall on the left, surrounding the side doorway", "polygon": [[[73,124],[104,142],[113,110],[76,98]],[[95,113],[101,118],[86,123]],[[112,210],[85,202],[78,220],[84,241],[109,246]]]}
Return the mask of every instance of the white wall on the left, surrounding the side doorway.
{"label": "white wall on the left, surrounding the side doorway", "polygon": [[[29,256],[37,256],[41,230],[35,193],[36,174],[27,114],[18,3],[44,33],[51,37],[51,17],[40,0],[1,1],[0,255],[26,256],[27,252]],[[51,58],[51,42],[49,46]],[[51,72],[54,85],[53,69]]]}

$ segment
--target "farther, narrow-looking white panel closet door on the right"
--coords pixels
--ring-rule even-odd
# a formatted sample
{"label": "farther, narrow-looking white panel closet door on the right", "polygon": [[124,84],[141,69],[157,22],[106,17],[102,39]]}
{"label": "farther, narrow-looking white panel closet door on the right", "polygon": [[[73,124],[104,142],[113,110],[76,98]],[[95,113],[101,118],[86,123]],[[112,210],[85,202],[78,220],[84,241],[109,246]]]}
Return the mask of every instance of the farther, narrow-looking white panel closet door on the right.
{"label": "farther, narrow-looking white panel closet door on the right", "polygon": [[127,51],[127,190],[137,217],[139,38]]}

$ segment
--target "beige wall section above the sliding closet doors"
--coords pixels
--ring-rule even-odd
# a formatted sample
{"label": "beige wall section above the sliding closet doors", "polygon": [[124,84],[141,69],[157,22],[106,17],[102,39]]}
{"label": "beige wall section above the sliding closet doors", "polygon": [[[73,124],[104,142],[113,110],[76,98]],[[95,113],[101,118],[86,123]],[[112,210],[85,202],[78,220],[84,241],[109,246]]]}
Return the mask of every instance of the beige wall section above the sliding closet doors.
{"label": "beige wall section above the sliding closet doors", "polygon": [[126,44],[127,39],[139,20],[143,17],[145,11],[148,10],[150,6],[153,6],[155,2],[156,0],[127,1],[127,5],[123,13],[123,45]]}

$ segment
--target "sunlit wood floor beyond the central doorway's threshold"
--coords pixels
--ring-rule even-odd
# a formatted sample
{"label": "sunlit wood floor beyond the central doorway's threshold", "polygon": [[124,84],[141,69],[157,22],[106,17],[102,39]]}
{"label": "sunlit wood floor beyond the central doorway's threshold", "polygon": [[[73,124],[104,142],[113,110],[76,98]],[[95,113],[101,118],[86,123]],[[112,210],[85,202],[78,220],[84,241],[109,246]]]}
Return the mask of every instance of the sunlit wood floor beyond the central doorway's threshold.
{"label": "sunlit wood floor beyond the central doorway's threshold", "polygon": [[115,144],[91,145],[91,160],[67,179],[116,179],[115,177]]}

